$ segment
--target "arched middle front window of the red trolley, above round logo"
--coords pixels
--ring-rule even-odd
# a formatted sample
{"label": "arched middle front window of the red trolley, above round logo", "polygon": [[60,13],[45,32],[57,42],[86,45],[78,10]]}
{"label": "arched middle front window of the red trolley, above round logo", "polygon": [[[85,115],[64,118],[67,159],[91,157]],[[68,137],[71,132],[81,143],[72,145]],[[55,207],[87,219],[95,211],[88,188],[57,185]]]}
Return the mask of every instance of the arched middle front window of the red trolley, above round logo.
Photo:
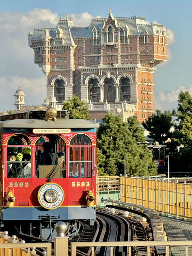
{"label": "arched middle front window of the red trolley, above round logo", "polygon": [[65,178],[65,142],[55,134],[41,136],[35,145],[35,178]]}

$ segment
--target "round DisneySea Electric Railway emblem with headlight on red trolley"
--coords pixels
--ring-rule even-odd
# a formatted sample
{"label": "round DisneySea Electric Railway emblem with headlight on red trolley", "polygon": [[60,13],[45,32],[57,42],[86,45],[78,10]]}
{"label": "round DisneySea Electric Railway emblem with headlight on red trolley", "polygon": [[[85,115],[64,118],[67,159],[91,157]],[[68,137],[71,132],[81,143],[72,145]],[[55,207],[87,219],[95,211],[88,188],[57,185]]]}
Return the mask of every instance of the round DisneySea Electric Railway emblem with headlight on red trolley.
{"label": "round DisneySea Electric Railway emblem with headlight on red trolley", "polygon": [[56,183],[49,182],[38,191],[38,201],[45,209],[56,209],[64,200],[64,191]]}

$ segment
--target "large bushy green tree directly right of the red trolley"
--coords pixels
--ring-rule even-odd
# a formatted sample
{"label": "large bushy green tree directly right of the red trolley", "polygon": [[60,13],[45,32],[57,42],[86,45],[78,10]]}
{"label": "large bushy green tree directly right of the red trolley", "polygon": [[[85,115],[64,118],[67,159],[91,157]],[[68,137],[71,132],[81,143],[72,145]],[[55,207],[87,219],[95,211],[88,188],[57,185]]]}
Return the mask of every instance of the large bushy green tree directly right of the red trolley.
{"label": "large bushy green tree directly right of the red trolley", "polygon": [[[124,155],[128,176],[152,176],[157,174],[157,165],[152,161],[152,152],[146,145],[137,145],[133,127],[122,122],[120,116],[107,113],[98,128],[97,146],[100,152],[98,170],[108,175],[124,173]],[[129,130],[129,128],[132,128]],[[103,155],[105,158],[101,158]]]}

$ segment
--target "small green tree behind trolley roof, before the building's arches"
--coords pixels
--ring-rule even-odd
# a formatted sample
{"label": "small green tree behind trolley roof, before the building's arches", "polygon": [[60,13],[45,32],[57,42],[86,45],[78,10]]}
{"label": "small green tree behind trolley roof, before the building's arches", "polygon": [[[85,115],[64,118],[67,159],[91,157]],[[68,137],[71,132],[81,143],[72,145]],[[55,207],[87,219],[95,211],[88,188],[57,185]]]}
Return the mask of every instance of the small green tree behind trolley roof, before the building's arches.
{"label": "small green tree behind trolley roof, before the building's arches", "polygon": [[78,96],[73,95],[67,102],[63,101],[63,109],[69,111],[70,119],[88,119],[91,116],[88,114],[88,106],[85,102],[81,101]]}

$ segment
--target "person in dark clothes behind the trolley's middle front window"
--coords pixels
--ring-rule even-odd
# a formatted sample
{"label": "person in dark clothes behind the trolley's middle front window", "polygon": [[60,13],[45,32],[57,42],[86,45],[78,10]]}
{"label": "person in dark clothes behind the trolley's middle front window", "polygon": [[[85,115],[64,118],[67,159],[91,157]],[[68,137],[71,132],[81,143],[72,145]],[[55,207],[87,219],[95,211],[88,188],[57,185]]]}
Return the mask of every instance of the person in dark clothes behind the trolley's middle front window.
{"label": "person in dark clothes behind the trolley's middle front window", "polygon": [[43,151],[37,160],[37,168],[39,165],[58,165],[58,155],[56,153],[52,153],[52,145],[50,142],[44,142]]}

